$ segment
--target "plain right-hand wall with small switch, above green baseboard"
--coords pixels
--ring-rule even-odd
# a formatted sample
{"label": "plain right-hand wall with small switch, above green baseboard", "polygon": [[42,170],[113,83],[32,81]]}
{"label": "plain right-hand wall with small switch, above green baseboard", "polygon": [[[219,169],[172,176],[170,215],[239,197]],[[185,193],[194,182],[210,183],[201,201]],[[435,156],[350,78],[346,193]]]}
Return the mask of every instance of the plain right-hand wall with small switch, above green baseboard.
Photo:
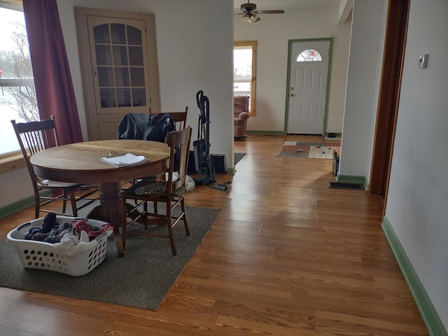
{"label": "plain right-hand wall with small switch, above green baseboard", "polygon": [[386,217],[448,330],[447,16],[446,0],[411,1]]}

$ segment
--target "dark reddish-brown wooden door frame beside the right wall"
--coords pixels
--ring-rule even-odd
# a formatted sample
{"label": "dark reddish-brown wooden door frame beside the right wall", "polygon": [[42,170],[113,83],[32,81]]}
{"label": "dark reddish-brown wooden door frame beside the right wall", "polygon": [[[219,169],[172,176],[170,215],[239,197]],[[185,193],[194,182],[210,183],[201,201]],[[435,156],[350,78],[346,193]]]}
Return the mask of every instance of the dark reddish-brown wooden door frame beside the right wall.
{"label": "dark reddish-brown wooden door frame beside the right wall", "polygon": [[410,0],[388,1],[383,64],[369,182],[369,193],[384,194],[384,209],[386,209],[398,105],[400,103],[409,5]]}

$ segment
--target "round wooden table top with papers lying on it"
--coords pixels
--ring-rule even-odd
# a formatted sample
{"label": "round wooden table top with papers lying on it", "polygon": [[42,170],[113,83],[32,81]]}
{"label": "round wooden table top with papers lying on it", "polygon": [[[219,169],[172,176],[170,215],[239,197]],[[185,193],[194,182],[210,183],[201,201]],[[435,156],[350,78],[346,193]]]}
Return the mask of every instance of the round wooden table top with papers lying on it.
{"label": "round wooden table top with papers lying on it", "polygon": [[[143,155],[148,162],[116,167],[101,160],[114,155]],[[104,183],[152,176],[166,169],[169,158],[167,144],[146,140],[85,141],[45,149],[31,155],[37,176],[62,182]]]}

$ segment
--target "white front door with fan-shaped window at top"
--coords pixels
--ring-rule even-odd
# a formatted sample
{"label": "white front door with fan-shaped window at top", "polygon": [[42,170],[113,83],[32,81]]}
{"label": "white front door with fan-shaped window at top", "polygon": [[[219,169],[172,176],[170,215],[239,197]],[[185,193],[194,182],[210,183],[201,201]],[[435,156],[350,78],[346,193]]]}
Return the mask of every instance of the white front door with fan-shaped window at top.
{"label": "white front door with fan-shaped window at top", "polygon": [[323,134],[331,40],[290,44],[288,134]]}

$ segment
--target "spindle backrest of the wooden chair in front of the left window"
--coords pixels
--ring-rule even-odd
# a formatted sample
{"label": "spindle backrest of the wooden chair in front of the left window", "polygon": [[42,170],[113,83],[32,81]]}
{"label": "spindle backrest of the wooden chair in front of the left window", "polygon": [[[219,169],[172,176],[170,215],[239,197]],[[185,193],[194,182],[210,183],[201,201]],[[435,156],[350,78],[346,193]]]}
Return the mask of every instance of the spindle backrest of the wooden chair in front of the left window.
{"label": "spindle backrest of the wooden chair in front of the left window", "polygon": [[31,121],[29,123],[15,123],[15,120],[11,120],[13,124],[15,136],[17,137],[22,151],[23,158],[27,164],[28,172],[31,179],[34,181],[40,181],[34,169],[29,161],[29,157],[45,148],[59,146],[59,137],[57,135],[57,128],[55,123],[55,116],[51,116],[51,119],[45,119],[40,121]]}

